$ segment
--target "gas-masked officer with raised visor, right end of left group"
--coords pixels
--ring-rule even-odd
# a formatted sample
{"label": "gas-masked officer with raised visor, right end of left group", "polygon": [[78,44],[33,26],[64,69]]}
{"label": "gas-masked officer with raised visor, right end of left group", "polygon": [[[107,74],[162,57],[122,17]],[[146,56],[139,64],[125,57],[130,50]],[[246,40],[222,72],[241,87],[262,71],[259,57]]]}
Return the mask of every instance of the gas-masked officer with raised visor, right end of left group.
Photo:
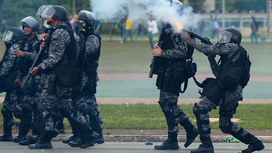
{"label": "gas-masked officer with raised visor, right end of left group", "polygon": [[[86,46],[86,62],[84,66],[84,72],[86,77],[88,78],[88,82],[86,82],[83,87],[83,97],[75,101],[75,107],[81,107],[86,105],[88,115],[89,115],[89,123],[91,129],[100,134],[100,138],[95,140],[94,143],[104,143],[104,138],[102,134],[101,125],[103,124],[102,118],[99,116],[99,112],[97,110],[98,104],[95,98],[96,86],[98,75],[97,75],[97,67],[98,60],[100,56],[101,49],[101,38],[94,32],[94,24],[95,24],[95,14],[86,10],[81,10],[78,13],[78,25],[76,26],[76,30],[81,32],[84,36],[85,46]],[[80,95],[80,94],[77,94]],[[78,101],[78,102],[77,102]],[[80,105],[78,103],[81,103]],[[72,141],[76,141],[77,136],[74,134]],[[63,141],[68,142],[68,141]],[[76,146],[71,143],[71,146]]]}

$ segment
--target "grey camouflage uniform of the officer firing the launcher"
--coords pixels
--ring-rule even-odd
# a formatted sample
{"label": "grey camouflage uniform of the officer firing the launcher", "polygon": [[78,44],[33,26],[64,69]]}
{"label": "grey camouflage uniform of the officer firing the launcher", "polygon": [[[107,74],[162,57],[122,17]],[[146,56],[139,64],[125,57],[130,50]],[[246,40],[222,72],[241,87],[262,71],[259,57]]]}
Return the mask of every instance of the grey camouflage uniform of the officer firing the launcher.
{"label": "grey camouflage uniform of the officer firing the launcher", "polygon": [[[199,52],[202,52],[204,54],[214,54],[214,55],[227,55],[228,58],[231,57],[231,55],[238,49],[238,45],[235,43],[225,43],[220,45],[206,45],[204,43],[197,42],[195,40],[190,39],[189,44],[196,48]],[[240,57],[240,53],[236,55],[236,57],[233,59],[237,60]],[[219,65],[215,61],[214,56],[211,56],[208,58],[212,72],[215,77],[217,77],[217,72]],[[199,131],[202,130],[202,132],[199,132],[200,138],[205,139],[209,138],[211,134],[211,126],[209,125],[209,115],[208,112],[212,110],[212,108],[216,106],[219,107],[219,127],[226,128],[228,126],[231,126],[231,132],[237,133],[238,131],[241,133],[240,136],[242,138],[245,138],[245,135],[248,133],[248,130],[243,129],[238,124],[233,124],[231,122],[231,118],[233,117],[234,109],[236,108],[236,104],[242,97],[243,89],[240,85],[238,85],[236,90],[233,91],[226,91],[225,97],[220,100],[218,104],[215,104],[214,102],[210,101],[206,96],[204,96],[201,101],[195,106],[200,110],[203,111],[203,113],[200,113],[200,117],[197,117],[197,125],[201,126],[198,127]],[[199,120],[200,119],[200,120]],[[202,128],[202,129],[200,129]]]}

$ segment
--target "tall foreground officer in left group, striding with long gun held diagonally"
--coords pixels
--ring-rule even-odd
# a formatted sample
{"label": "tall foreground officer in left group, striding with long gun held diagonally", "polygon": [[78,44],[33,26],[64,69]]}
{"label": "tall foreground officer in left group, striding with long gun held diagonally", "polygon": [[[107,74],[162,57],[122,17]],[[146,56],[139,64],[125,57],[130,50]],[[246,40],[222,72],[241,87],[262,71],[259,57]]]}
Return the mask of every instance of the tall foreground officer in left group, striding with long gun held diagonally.
{"label": "tall foreground officer in left group, striding with long gun held diagonally", "polygon": [[[44,134],[40,134],[41,140],[34,145],[29,145],[31,149],[51,149],[52,131],[56,126],[56,118],[51,113],[53,104],[57,102],[59,113],[66,117],[70,123],[75,126],[80,133],[84,144],[81,148],[88,148],[94,140],[100,137],[93,132],[89,125],[84,123],[85,120],[79,112],[71,105],[71,86],[78,83],[79,79],[75,71],[75,36],[72,29],[64,23],[67,19],[67,12],[61,6],[49,6],[41,14],[43,20],[52,26],[49,36],[41,46],[48,49],[48,58],[43,60],[38,67],[31,71],[35,75],[39,70],[43,71],[42,78],[45,78],[44,88],[35,101],[42,102],[43,108],[41,115],[44,120]],[[40,109],[40,108],[39,108]],[[42,126],[42,125],[41,125]]]}

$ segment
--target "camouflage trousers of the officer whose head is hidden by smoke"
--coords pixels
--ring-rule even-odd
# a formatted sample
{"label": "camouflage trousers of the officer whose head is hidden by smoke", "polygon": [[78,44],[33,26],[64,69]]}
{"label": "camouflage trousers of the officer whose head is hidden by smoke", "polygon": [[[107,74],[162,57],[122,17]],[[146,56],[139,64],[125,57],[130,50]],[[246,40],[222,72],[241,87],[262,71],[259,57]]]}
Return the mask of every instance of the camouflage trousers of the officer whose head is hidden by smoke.
{"label": "camouflage trousers of the officer whose head is hidden by smoke", "polygon": [[178,96],[179,95],[175,93],[160,90],[160,98],[158,103],[160,104],[162,110],[166,104],[173,108],[173,111],[170,114],[163,112],[166,118],[168,132],[170,133],[178,133],[178,124],[180,123],[181,126],[184,126],[183,121],[189,119],[188,115],[184,114],[183,110],[177,105]]}

